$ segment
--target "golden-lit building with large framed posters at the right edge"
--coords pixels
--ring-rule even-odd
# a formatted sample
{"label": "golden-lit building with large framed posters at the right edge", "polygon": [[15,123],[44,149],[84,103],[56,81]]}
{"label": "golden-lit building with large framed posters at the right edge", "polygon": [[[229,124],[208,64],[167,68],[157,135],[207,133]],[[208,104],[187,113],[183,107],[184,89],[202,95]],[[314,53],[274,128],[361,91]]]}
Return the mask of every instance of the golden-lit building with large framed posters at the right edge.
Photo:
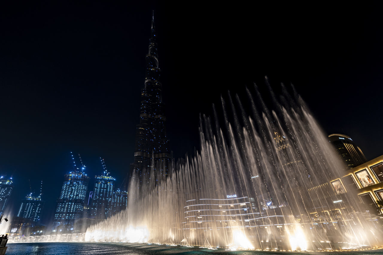
{"label": "golden-lit building with large framed posters at the right edge", "polygon": [[346,189],[357,190],[359,198],[369,206],[371,214],[383,212],[383,208],[378,205],[383,201],[383,155],[348,170],[342,182]]}

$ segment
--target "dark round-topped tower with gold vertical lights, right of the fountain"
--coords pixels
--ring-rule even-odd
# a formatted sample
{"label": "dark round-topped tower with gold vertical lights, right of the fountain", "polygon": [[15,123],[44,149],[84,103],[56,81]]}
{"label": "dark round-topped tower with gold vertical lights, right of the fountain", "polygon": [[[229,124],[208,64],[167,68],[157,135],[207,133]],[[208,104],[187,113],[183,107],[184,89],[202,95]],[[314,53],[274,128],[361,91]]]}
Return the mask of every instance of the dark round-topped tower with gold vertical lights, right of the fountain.
{"label": "dark round-topped tower with gold vertical lights, right of the fountain", "polygon": [[329,139],[341,159],[346,163],[348,169],[367,162],[362,150],[355,145],[351,137],[344,134],[331,134],[329,135]]}

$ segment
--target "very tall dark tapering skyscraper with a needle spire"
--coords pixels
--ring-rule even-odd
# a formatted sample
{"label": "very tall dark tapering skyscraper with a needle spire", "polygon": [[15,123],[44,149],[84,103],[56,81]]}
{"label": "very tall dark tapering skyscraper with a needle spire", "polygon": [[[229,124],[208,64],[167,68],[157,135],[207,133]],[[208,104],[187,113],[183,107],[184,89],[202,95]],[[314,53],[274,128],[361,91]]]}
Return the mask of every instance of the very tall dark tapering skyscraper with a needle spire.
{"label": "very tall dark tapering skyscraper with a needle spire", "polygon": [[134,162],[130,168],[130,178],[137,178],[141,185],[157,184],[160,178],[167,177],[170,165],[160,72],[153,15],[149,53],[146,54],[145,87],[141,91],[140,121],[136,127]]}

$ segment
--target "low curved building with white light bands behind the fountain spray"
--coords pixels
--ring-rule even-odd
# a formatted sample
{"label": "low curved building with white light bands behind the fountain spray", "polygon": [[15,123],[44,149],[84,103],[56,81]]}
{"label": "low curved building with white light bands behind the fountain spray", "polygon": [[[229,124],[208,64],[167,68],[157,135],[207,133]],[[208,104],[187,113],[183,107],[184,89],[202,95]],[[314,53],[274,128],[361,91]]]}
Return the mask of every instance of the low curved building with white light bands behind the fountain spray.
{"label": "low curved building with white light bands behind the fountain spray", "polygon": [[[282,229],[285,223],[284,216],[282,213],[275,214],[275,212],[281,212],[283,205],[276,205],[270,200],[265,200],[264,203],[260,203],[262,208],[259,210],[255,204],[254,198],[237,196],[237,194],[228,194],[220,199],[187,200],[183,208],[182,229],[188,233],[186,235],[190,239],[188,242],[208,246],[210,244],[206,238],[206,231],[210,232],[210,230],[217,230],[224,236],[229,229],[243,229],[249,235],[252,232],[266,234],[267,226]],[[274,213],[267,212],[268,210]]]}

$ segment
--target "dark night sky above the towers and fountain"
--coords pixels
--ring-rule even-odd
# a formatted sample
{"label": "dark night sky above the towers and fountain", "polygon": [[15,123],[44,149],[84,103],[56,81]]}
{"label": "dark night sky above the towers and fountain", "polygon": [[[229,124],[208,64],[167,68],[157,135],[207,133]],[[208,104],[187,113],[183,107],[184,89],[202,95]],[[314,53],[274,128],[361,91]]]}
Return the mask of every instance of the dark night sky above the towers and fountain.
{"label": "dark night sky above the towers and fountain", "polygon": [[[10,203],[39,190],[52,219],[70,152],[103,157],[118,185],[133,161],[151,10],[175,157],[199,148],[200,113],[267,75],[293,83],[325,132],[381,154],[383,38],[377,6],[8,1],[0,6],[0,172]],[[77,3],[82,2],[82,3]],[[223,2],[221,2],[222,4]],[[194,4],[194,5],[193,5]]]}

